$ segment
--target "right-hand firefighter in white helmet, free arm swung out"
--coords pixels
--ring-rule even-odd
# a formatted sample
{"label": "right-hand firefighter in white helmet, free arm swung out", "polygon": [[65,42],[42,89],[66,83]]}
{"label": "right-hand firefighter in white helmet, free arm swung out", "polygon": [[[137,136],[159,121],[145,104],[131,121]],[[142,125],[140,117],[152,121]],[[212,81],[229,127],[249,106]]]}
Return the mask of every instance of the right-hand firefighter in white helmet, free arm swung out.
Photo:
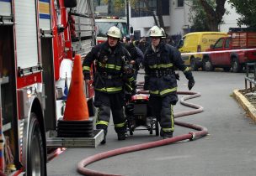
{"label": "right-hand firefighter in white helmet, free arm swung out", "polygon": [[189,90],[195,85],[192,72],[184,65],[181,54],[169,44],[163,43],[164,30],[157,26],[150,29],[152,44],[144,55],[145,84],[149,91],[149,106],[160,123],[160,136],[173,137],[173,106],[178,101],[175,68],[182,70],[189,80]]}

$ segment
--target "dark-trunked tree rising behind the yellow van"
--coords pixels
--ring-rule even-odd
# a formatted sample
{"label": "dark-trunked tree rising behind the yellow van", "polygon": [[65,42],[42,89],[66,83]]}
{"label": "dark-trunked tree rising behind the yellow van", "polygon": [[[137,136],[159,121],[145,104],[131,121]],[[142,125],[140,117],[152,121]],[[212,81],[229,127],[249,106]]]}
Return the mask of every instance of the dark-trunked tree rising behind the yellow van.
{"label": "dark-trunked tree rising behind the yellow van", "polygon": [[[203,8],[205,13],[197,13],[196,23],[205,23],[211,31],[218,31],[218,26],[222,22],[223,15],[226,13],[225,3],[227,0],[192,0],[195,8]],[[198,10],[201,12],[200,10]],[[205,19],[200,21],[200,16]]]}

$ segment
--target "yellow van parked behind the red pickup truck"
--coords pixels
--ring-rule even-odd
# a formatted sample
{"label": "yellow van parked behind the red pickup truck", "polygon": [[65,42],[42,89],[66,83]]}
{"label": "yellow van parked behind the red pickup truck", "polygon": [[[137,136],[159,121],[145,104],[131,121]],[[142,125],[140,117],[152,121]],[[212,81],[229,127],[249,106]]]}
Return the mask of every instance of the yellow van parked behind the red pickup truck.
{"label": "yellow van parked behind the red pickup truck", "polygon": [[196,53],[209,49],[217,39],[226,36],[227,33],[221,32],[195,32],[184,35],[178,44],[178,49],[183,54],[184,64],[190,66],[191,70],[198,70],[202,67],[203,55]]}

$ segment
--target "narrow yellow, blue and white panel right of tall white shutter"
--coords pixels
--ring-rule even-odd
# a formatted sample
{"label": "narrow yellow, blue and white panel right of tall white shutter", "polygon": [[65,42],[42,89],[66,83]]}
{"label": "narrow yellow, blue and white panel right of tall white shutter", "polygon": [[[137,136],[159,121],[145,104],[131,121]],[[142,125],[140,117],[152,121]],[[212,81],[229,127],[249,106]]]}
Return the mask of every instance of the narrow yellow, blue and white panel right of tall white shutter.
{"label": "narrow yellow, blue and white panel right of tall white shutter", "polygon": [[43,31],[51,31],[50,0],[39,0],[39,25]]}

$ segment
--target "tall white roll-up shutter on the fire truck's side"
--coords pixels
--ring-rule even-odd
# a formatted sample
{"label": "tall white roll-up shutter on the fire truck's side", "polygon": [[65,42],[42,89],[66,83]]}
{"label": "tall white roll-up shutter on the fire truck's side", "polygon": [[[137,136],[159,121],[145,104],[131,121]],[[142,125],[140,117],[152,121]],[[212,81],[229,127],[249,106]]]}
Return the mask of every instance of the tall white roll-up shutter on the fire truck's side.
{"label": "tall white roll-up shutter on the fire truck's side", "polygon": [[38,36],[35,0],[16,0],[14,8],[17,65],[21,69],[38,65]]}

